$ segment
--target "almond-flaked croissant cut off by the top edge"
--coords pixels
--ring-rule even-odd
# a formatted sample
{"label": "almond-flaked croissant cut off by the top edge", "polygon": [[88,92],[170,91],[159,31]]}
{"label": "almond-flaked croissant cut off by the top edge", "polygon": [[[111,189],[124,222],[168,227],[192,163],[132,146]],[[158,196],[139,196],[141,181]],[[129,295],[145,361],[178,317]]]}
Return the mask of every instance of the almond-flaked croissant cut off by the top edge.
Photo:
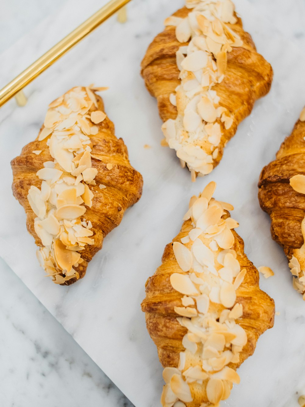
{"label": "almond-flaked croissant cut off by the top edge", "polygon": [[162,144],[176,150],[194,181],[219,164],[238,124],[269,92],[273,72],[231,0],[186,0],[165,25],[141,72],[157,98]]}

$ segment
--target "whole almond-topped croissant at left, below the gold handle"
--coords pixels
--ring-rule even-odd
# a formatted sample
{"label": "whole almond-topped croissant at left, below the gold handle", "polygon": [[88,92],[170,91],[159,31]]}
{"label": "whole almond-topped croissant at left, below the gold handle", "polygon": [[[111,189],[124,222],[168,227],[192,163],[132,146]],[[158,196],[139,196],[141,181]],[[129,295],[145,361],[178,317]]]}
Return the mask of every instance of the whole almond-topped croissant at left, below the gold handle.
{"label": "whole almond-topped croissant at left, below the gold handle", "polygon": [[57,284],[85,276],[104,237],[139,200],[143,180],[96,91],[76,87],[50,103],[35,141],[11,161],[13,195]]}

